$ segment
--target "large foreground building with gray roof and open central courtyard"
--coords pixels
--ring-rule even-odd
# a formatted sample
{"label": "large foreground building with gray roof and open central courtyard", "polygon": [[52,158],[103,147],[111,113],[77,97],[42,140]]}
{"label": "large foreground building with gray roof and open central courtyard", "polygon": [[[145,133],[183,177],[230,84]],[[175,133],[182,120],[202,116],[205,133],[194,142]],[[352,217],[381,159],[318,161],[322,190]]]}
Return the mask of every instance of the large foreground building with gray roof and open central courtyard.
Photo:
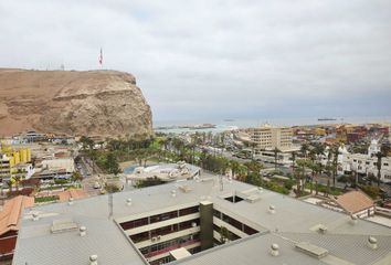
{"label": "large foreground building with gray roof and open central courtyard", "polygon": [[387,226],[214,178],[24,211],[12,264],[391,262],[391,231]]}

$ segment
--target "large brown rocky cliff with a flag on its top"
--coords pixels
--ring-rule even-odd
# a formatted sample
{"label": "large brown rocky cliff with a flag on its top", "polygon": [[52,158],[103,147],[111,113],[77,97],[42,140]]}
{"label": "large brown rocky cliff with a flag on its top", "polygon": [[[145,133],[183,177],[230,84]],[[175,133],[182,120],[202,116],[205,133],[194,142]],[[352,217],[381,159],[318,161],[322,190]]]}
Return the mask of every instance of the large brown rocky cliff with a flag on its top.
{"label": "large brown rocky cliff with a flag on its top", "polygon": [[136,78],[116,71],[0,70],[0,135],[118,137],[152,132]]}

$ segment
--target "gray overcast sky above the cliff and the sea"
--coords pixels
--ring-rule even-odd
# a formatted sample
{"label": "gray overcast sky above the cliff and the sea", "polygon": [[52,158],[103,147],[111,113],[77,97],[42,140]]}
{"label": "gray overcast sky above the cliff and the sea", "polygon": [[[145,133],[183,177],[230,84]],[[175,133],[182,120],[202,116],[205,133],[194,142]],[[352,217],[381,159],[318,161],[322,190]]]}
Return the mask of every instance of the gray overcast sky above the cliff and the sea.
{"label": "gray overcast sky above the cliff and the sea", "polygon": [[0,67],[101,46],[156,120],[391,115],[390,0],[0,0]]}

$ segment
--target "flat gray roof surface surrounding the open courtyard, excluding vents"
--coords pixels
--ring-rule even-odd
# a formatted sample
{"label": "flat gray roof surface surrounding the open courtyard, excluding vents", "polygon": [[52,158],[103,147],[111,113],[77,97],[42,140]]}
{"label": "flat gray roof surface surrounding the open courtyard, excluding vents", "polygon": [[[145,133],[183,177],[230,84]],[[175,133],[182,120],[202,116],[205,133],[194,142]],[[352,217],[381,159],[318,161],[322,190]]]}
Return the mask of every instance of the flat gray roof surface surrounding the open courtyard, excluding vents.
{"label": "flat gray roof surface surrounding the open courtyard, excluding vents", "polygon": [[[191,190],[183,192],[180,186]],[[224,179],[223,187],[224,190],[220,191],[218,178],[214,177],[210,181],[181,181],[115,193],[113,219],[108,218],[108,195],[75,200],[72,205],[54,203],[35,206],[24,211],[13,264],[88,264],[88,257],[93,254],[98,255],[99,265],[144,264],[115,220],[173,206],[178,209],[178,205],[197,204],[203,200],[212,201],[216,210],[246,220],[262,233],[198,253],[183,258],[181,264],[342,264],[342,261],[345,264],[376,264],[385,256],[391,258],[389,227],[363,220],[358,220],[353,225],[350,216],[344,213],[237,181]],[[172,190],[176,190],[175,198],[171,197]],[[232,203],[223,199],[234,192],[258,197],[258,200]],[[130,206],[126,204],[128,198],[131,198]],[[270,205],[275,206],[275,213],[268,212]],[[31,220],[31,211],[40,213],[39,221]],[[52,234],[52,223],[59,220],[72,220],[85,225],[87,235],[80,236],[77,230]],[[319,225],[327,227],[326,234],[318,233]],[[366,245],[369,235],[378,239],[377,250]],[[324,247],[329,254],[319,261],[298,251],[295,244],[299,242]],[[268,253],[273,243],[279,245],[281,255]]]}

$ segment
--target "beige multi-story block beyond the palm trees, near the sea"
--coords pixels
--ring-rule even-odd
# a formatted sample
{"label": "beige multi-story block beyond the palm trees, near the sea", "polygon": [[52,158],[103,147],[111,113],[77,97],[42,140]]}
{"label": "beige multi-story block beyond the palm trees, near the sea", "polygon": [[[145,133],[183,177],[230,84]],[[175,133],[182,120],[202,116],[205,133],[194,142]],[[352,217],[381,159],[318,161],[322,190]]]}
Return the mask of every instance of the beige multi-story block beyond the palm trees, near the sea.
{"label": "beige multi-story block beyond the palm trees, near the sea", "polygon": [[290,149],[292,136],[293,130],[289,127],[272,127],[270,125],[263,125],[250,129],[250,138],[256,145],[254,148],[255,155],[275,148],[282,151]]}

